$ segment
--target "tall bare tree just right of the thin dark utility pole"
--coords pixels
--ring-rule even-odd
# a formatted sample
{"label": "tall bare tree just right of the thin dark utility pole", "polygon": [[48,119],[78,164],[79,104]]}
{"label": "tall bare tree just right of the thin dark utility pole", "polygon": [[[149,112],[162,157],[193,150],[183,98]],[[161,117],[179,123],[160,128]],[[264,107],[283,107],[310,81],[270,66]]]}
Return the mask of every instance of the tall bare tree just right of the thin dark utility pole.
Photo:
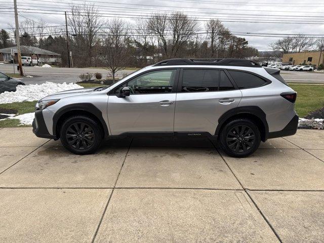
{"label": "tall bare tree just right of the thin dark utility pole", "polygon": [[[80,56],[88,57],[88,64],[92,66],[93,49],[99,42],[99,31],[104,25],[99,10],[94,4],[72,5],[68,24],[72,29],[72,45]],[[84,52],[85,46],[87,52]],[[87,54],[87,55],[86,55]]]}

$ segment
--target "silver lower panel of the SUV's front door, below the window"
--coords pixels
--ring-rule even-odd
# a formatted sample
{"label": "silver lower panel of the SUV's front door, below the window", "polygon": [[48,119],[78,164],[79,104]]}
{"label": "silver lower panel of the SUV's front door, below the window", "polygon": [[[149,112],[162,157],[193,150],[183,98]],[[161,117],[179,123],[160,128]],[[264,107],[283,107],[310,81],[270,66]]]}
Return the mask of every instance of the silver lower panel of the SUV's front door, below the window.
{"label": "silver lower panel of the SUV's front door, below the window", "polygon": [[109,96],[111,135],[126,132],[173,132],[176,94]]}

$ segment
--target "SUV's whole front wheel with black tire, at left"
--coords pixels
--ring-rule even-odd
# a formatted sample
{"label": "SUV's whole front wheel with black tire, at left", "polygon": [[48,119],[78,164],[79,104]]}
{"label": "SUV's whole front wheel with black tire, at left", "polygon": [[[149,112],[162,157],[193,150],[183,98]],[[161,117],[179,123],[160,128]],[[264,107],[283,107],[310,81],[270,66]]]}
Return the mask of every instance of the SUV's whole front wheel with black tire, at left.
{"label": "SUV's whole front wheel with black tire, at left", "polygon": [[67,118],[61,126],[63,146],[75,154],[94,153],[101,145],[103,131],[93,118],[77,115]]}

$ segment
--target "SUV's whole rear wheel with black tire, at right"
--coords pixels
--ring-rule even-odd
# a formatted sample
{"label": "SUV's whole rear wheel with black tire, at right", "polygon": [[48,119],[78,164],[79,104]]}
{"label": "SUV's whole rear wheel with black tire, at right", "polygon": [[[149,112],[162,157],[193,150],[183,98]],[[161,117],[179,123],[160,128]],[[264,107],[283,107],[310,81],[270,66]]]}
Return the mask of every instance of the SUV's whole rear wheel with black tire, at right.
{"label": "SUV's whole rear wheel with black tire, at right", "polygon": [[223,151],[232,157],[247,157],[261,142],[257,125],[250,119],[235,119],[227,123],[220,133]]}

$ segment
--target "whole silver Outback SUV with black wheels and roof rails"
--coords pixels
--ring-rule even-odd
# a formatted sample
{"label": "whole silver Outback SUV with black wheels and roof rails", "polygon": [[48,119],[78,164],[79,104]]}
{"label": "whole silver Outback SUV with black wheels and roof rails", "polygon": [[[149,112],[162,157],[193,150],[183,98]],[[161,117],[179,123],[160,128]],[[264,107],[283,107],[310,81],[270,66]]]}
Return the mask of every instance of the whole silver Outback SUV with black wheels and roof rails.
{"label": "whole silver Outback SUV with black wheels and roof rails", "polygon": [[111,136],[206,136],[244,157],[260,141],[296,133],[296,92],[279,72],[240,59],[165,60],[110,87],[39,100],[33,132],[76,154]]}

